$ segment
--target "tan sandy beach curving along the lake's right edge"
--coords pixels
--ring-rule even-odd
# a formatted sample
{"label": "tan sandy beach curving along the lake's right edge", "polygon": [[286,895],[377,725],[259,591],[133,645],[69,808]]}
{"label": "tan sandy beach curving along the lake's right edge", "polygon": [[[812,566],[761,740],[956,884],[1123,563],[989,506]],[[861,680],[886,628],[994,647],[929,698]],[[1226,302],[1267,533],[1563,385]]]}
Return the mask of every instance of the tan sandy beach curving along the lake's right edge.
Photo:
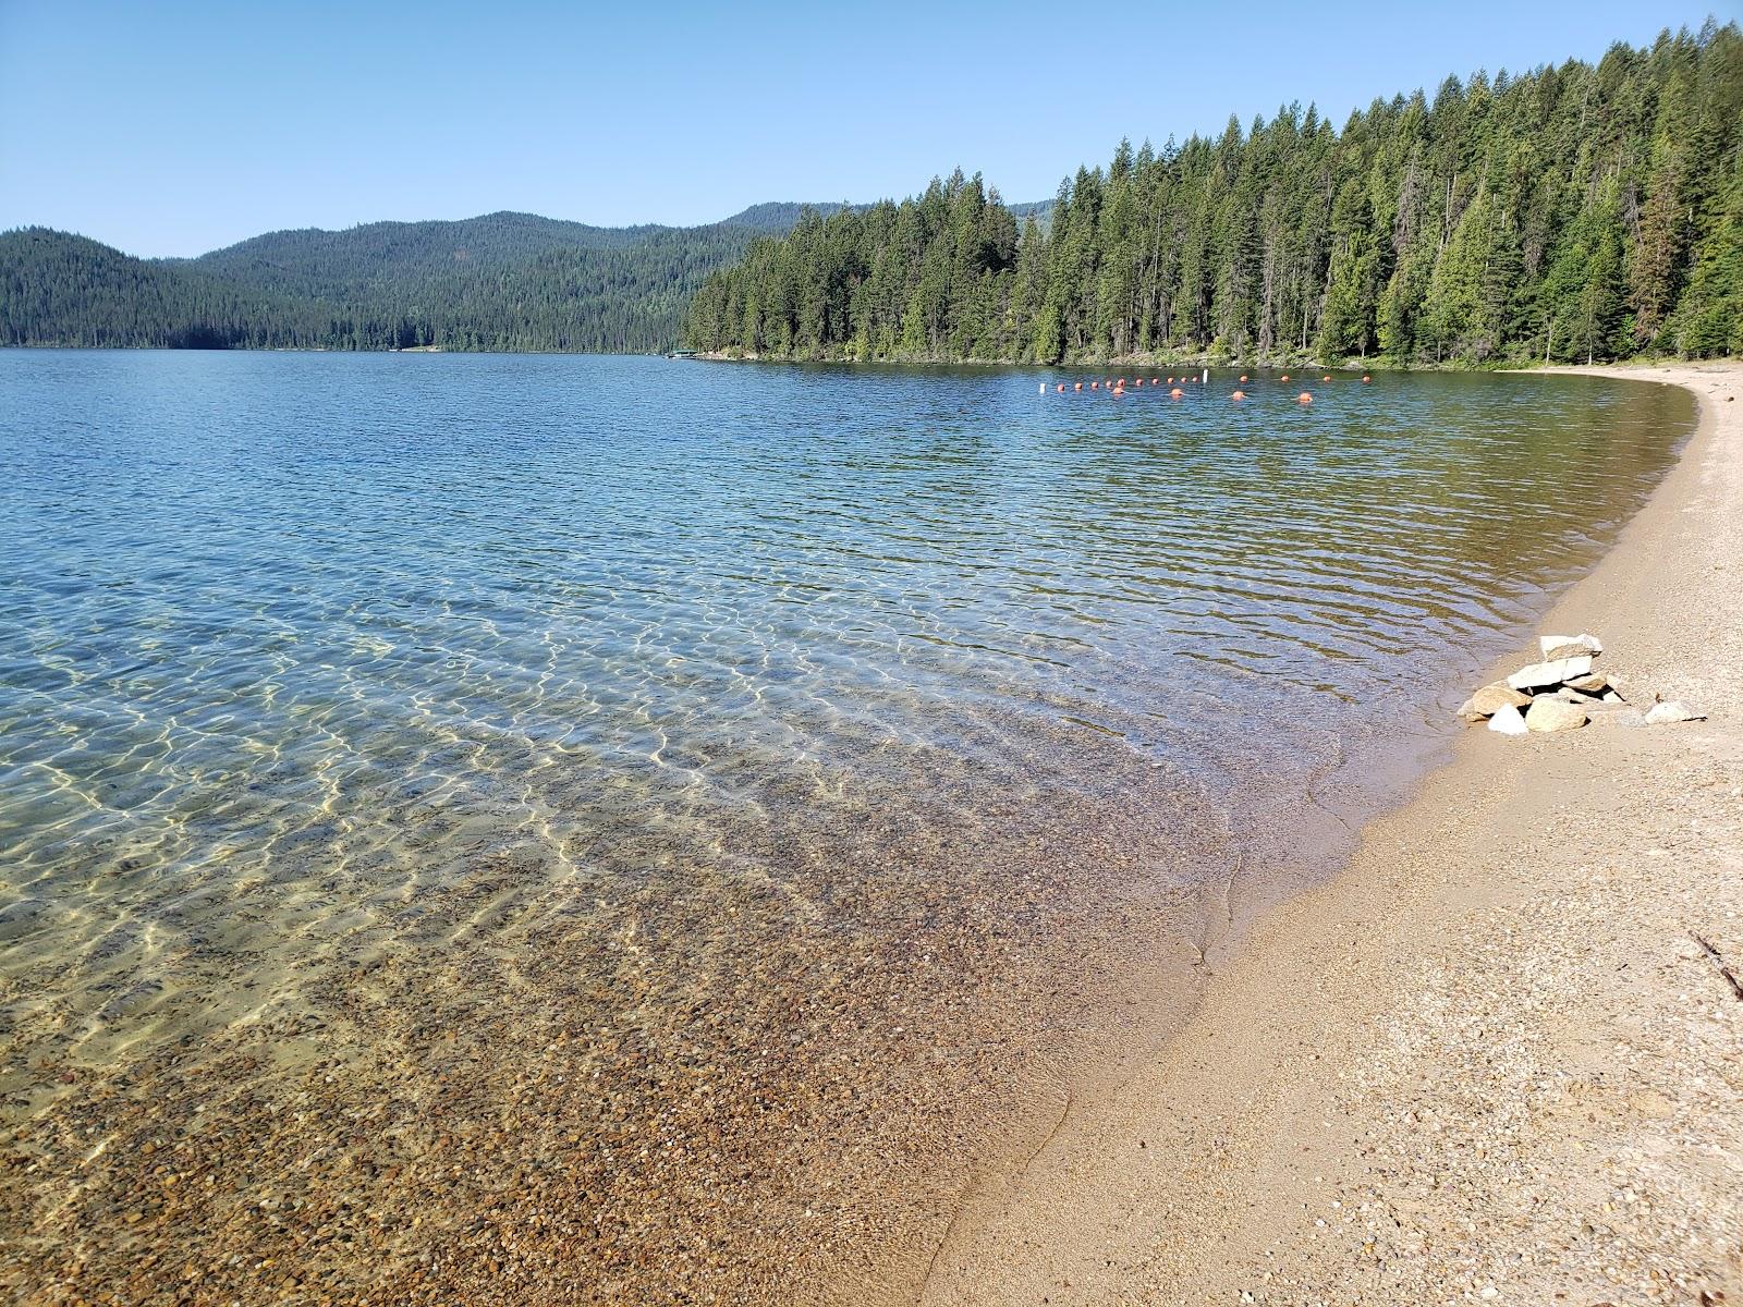
{"label": "tan sandy beach curving along the lake's right edge", "polygon": [[980,1185],[922,1302],[1743,1300],[1743,366],[1590,371],[1701,422],[1541,629],[1708,720],[1469,730]]}

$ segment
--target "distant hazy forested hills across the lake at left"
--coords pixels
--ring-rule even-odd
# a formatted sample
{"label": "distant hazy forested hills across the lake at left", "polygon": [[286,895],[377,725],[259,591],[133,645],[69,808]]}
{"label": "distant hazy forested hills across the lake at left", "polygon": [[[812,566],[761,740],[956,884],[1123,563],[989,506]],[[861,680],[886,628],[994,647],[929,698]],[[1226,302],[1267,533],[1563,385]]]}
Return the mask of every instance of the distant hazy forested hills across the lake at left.
{"label": "distant hazy forested hills across the lake at left", "polygon": [[[0,343],[195,349],[643,352],[690,295],[800,204],[708,227],[587,227],[525,213],[270,232],[138,260],[45,228],[0,234]],[[833,207],[831,207],[833,211]]]}

